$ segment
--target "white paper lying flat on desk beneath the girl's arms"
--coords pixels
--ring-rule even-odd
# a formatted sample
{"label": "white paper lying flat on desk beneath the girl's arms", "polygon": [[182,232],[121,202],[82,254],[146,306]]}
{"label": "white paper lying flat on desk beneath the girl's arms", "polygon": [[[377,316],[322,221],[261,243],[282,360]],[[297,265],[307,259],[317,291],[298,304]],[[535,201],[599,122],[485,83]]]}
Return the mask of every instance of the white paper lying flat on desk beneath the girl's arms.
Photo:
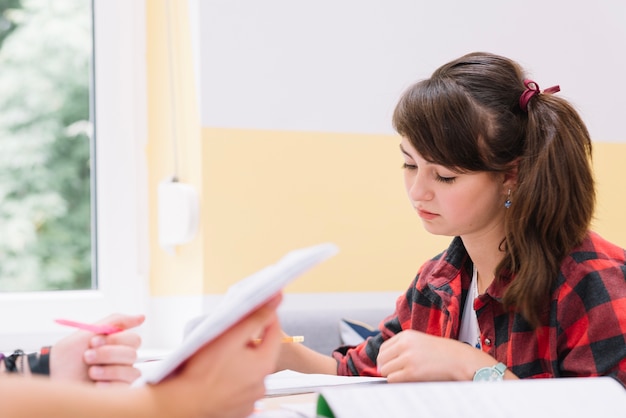
{"label": "white paper lying flat on desk beneath the girl's arms", "polygon": [[296,395],[318,392],[329,386],[360,385],[364,383],[385,383],[384,377],[335,376],[329,374],[299,373],[283,370],[265,378],[265,396]]}

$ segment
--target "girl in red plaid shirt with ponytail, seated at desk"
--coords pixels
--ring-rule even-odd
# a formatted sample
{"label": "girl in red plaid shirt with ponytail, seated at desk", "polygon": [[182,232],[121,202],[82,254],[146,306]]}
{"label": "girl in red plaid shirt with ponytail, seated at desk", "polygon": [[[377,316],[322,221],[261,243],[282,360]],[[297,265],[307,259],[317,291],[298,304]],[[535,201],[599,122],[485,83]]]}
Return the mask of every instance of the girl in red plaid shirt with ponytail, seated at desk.
{"label": "girl in red plaid shirt with ponytail, seated at desk", "polygon": [[400,98],[407,194],[454,237],[379,336],[333,357],[285,344],[279,368],[390,382],[612,376],[626,385],[626,252],[589,230],[591,140],[514,61],[472,53]]}

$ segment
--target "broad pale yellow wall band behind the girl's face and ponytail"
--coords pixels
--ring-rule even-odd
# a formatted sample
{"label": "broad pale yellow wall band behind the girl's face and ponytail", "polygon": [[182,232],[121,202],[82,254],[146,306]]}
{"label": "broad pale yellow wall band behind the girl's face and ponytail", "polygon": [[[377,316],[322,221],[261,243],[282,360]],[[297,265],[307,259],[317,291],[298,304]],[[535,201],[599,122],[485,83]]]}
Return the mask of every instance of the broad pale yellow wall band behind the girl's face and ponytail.
{"label": "broad pale yellow wall band behind the girl's face and ponytail", "polygon": [[[449,242],[426,233],[413,213],[395,136],[205,128],[203,141],[209,292],[323,241],[337,243],[340,253],[287,291],[403,291]],[[620,155],[626,144],[595,144],[595,226],[626,246],[626,201],[613,192],[624,188]]]}

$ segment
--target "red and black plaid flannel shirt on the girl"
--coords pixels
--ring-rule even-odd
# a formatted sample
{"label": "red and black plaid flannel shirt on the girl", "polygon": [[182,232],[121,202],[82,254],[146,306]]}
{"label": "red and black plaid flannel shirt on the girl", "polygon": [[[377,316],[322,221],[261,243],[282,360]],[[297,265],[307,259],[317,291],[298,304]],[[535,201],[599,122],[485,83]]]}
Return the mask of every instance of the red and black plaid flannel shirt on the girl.
{"label": "red and black plaid flannel shirt on the girl", "polygon": [[[472,261],[460,238],[425,263],[381,333],[333,352],[339,375],[377,376],[384,340],[405,329],[458,339]],[[513,278],[514,280],[514,278]],[[590,232],[561,264],[543,326],[500,303],[506,280],[474,302],[482,349],[520,378],[612,376],[626,386],[626,251]]]}

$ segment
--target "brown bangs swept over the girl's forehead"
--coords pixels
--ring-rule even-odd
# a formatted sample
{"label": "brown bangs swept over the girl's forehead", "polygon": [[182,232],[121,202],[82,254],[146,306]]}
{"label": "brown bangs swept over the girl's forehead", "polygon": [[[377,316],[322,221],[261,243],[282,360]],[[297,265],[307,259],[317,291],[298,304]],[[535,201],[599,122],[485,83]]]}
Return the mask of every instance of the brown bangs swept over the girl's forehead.
{"label": "brown bangs swept over the girl's forehead", "polygon": [[425,160],[456,171],[488,171],[479,139],[489,124],[480,109],[456,83],[423,80],[402,95],[392,121]]}

